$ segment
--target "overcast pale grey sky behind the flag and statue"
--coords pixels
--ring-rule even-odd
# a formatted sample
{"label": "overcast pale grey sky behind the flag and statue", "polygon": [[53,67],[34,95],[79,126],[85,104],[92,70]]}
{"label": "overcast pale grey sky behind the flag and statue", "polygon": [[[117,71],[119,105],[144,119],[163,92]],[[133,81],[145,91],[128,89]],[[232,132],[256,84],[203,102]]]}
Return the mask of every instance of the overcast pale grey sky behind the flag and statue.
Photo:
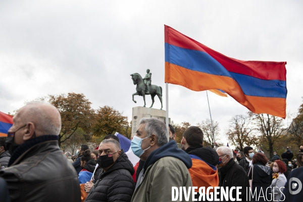
{"label": "overcast pale grey sky behind the flag and statue", "polygon": [[[286,61],[287,112],[303,96],[302,1],[0,1],[0,111],[48,94],[84,93],[92,107],[131,118],[130,74],[153,73],[164,89],[164,24],[239,60]],[[247,109],[209,92],[222,142]],[[155,98],[154,108],[160,109]],[[146,97],[146,106],[151,104]],[[169,84],[169,117],[195,125],[210,117],[205,91]]]}

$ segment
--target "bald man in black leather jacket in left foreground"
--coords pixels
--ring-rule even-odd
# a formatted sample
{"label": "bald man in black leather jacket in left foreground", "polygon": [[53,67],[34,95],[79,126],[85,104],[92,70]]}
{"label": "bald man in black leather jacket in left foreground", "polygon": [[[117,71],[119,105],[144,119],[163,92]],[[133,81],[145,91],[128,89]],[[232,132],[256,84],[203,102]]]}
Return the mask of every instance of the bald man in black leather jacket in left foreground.
{"label": "bald man in black leather jacket in left foreground", "polygon": [[51,104],[18,110],[6,147],[11,159],[1,170],[14,201],[81,201],[78,175],[58,146],[61,116]]}

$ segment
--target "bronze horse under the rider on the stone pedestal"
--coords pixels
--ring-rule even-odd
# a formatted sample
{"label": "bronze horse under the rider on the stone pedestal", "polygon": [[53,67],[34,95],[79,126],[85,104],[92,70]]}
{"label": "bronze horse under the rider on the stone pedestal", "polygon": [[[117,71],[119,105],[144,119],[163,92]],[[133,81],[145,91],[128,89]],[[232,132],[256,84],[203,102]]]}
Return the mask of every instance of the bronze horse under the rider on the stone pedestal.
{"label": "bronze horse under the rider on the stone pedestal", "polygon": [[[133,93],[133,102],[137,103],[136,100],[134,100],[134,95],[139,95],[139,96],[143,96],[143,100],[144,100],[144,106],[146,105],[145,103],[145,94],[147,95],[146,93],[146,86],[143,82],[143,79],[141,77],[140,74],[138,73],[134,73],[134,74],[131,74],[131,79],[133,80],[134,82],[134,85],[137,85],[136,87],[136,90],[137,92]],[[150,96],[151,96],[151,100],[153,100],[153,103],[151,103],[151,106],[149,108],[152,108],[154,103],[155,103],[155,96],[158,95],[159,99],[160,99],[160,102],[161,102],[161,109],[163,108],[163,105],[162,105],[162,87],[161,86],[158,86],[158,85],[150,85]]]}

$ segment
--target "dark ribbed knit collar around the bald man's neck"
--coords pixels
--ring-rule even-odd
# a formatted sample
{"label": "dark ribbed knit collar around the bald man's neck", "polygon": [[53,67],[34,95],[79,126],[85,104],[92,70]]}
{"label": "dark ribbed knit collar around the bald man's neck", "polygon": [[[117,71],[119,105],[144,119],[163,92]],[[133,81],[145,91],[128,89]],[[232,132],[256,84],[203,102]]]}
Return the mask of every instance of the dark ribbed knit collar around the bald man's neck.
{"label": "dark ribbed knit collar around the bald man's neck", "polygon": [[23,144],[20,144],[17,149],[14,151],[14,153],[11,156],[10,162],[8,167],[13,165],[17,159],[20,157],[24,157],[25,154],[28,153],[28,151],[33,148],[35,145],[46,142],[46,141],[51,141],[51,140],[58,140],[58,135],[41,135],[32,139],[29,139],[25,141]]}

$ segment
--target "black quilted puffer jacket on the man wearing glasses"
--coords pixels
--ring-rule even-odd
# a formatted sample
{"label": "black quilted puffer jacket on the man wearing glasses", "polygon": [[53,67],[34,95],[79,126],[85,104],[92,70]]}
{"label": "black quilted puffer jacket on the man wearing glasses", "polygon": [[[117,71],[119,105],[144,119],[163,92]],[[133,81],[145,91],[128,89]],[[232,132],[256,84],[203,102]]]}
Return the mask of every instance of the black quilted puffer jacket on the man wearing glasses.
{"label": "black quilted puffer jacket on the man wearing glasses", "polygon": [[134,172],[133,165],[122,151],[114,165],[95,179],[85,201],[130,201],[135,189]]}

